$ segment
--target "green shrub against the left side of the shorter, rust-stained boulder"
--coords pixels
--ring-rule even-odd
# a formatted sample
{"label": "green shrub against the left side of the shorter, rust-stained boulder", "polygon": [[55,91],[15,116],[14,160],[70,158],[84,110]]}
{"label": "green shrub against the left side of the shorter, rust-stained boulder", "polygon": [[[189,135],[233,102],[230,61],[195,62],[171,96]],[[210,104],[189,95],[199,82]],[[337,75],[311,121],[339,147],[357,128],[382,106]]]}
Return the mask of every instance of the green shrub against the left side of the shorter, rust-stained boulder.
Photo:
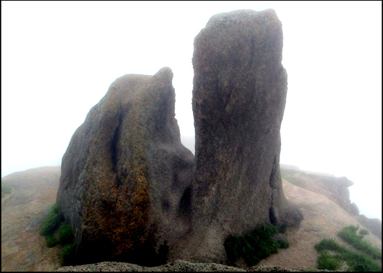
{"label": "green shrub against the left side of the shorter, rust-stained boulder", "polygon": [[56,204],[53,204],[42,221],[40,234],[45,237],[47,247],[61,245],[62,265],[74,265],[76,243],[73,231]]}

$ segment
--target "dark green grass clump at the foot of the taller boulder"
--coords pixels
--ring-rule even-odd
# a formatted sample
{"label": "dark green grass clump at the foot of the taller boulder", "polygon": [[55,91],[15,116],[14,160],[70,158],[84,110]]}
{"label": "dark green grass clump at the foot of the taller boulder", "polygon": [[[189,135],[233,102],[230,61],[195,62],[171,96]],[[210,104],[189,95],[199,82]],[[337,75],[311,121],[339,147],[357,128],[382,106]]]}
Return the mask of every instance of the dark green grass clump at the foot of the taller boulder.
{"label": "dark green grass clump at the foot of the taller boulder", "polygon": [[287,240],[278,239],[280,232],[275,225],[265,225],[245,236],[230,236],[223,244],[231,265],[244,258],[248,266],[259,263],[263,258],[278,253],[278,248],[287,248]]}

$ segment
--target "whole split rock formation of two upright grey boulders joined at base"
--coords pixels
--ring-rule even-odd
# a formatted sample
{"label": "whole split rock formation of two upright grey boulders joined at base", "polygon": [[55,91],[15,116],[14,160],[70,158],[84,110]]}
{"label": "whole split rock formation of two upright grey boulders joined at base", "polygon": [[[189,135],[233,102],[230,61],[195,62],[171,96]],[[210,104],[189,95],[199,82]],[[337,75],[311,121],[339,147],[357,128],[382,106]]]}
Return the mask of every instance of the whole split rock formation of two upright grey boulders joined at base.
{"label": "whole split rock formation of two upright grey boulders joined at base", "polygon": [[169,68],[112,83],[62,159],[57,202],[83,261],[225,263],[229,235],[300,222],[279,169],[281,61],[273,10],[223,13],[201,30],[193,57],[196,166],[180,143]]}

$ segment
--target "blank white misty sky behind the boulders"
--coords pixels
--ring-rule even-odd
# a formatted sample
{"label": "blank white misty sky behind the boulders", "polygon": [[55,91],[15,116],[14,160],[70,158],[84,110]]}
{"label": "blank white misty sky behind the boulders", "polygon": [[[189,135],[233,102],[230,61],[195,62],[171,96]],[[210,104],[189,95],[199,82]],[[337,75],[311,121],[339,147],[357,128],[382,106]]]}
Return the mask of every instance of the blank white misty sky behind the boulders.
{"label": "blank white misty sky behind the boulders", "polygon": [[162,67],[194,151],[194,37],[217,13],[266,8],[288,73],[280,163],[348,177],[382,220],[382,1],[1,1],[1,177],[59,166],[116,78]]}

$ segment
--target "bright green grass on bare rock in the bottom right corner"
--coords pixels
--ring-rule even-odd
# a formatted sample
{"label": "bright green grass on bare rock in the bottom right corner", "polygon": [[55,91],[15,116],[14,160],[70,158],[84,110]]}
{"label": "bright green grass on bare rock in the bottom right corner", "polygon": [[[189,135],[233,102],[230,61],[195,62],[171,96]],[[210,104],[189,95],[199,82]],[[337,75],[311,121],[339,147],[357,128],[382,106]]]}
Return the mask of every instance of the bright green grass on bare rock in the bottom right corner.
{"label": "bright green grass on bare rock in the bottom right corner", "polygon": [[[358,235],[358,229],[359,226],[350,225],[338,233],[338,236],[350,247],[343,247],[332,238],[323,239],[316,244],[315,249],[319,254],[316,261],[318,269],[337,271],[342,263],[346,262],[349,271],[381,272],[382,267],[376,260],[382,261],[382,252],[370,243],[361,240],[368,235],[368,231],[361,229]],[[352,248],[357,249],[357,251]]]}

